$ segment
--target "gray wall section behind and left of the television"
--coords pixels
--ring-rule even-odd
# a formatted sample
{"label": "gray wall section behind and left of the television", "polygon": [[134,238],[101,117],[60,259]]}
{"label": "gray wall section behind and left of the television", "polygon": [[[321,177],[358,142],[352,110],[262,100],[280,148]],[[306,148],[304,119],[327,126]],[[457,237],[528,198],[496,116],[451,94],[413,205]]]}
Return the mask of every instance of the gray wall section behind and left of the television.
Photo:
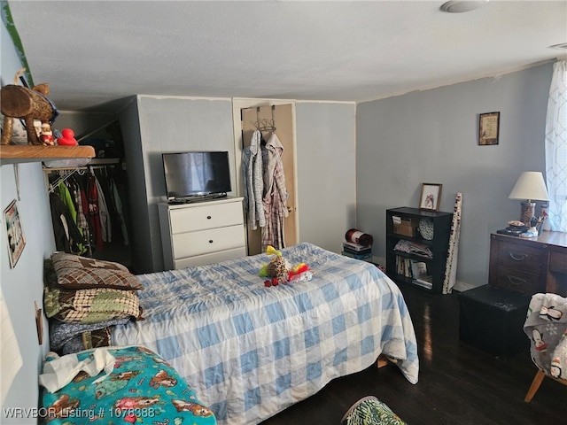
{"label": "gray wall section behind and left of the television", "polygon": [[[128,167],[136,273],[163,270],[158,203],[166,201],[161,154],[229,151],[235,163],[230,99],[138,96],[120,112]],[[230,176],[234,195],[236,170]]]}

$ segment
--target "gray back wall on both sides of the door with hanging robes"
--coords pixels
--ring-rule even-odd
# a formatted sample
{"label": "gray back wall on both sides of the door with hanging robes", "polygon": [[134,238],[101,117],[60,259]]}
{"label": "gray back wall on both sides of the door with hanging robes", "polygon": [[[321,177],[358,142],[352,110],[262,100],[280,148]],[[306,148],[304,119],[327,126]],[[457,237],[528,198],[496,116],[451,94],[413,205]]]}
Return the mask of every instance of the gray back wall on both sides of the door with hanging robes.
{"label": "gray back wall on both sides of the door with hanging robes", "polygon": [[[355,104],[299,103],[296,111],[299,240],[340,251],[355,220]],[[157,209],[166,199],[161,154],[229,151],[234,165],[232,119],[229,98],[138,96],[120,112],[136,273],[163,269]],[[232,167],[229,195],[237,195],[239,172]]]}

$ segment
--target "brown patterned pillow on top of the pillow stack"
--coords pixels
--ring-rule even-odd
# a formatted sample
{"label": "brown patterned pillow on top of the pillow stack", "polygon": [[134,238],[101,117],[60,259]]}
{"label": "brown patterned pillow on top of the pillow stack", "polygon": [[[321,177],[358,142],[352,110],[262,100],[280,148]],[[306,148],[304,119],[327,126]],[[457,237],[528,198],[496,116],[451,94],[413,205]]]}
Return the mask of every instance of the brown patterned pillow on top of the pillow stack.
{"label": "brown patterned pillow on top of the pillow stack", "polygon": [[55,252],[51,255],[51,261],[57,274],[58,285],[66,290],[144,289],[138,278],[119,263],[89,259],[66,252]]}

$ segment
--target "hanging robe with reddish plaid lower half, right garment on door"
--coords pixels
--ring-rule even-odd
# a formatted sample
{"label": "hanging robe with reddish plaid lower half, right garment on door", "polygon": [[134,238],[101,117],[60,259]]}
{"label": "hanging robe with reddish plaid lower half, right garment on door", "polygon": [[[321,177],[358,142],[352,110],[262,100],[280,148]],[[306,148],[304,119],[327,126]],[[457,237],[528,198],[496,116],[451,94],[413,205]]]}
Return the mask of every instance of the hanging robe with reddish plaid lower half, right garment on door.
{"label": "hanging robe with reddish plaid lower half, right garment on door", "polygon": [[283,144],[276,133],[272,133],[262,150],[264,163],[263,207],[266,216],[266,226],[261,228],[262,251],[266,251],[268,245],[272,245],[276,250],[285,248],[283,220],[289,213],[287,211],[288,192],[285,188],[282,156]]}

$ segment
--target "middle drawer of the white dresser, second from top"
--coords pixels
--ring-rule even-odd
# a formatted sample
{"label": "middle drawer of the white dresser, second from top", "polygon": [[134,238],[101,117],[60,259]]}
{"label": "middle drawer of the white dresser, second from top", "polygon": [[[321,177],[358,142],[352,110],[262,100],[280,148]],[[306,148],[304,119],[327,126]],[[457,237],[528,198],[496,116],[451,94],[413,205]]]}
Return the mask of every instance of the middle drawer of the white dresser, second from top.
{"label": "middle drawer of the white dresser, second from top", "polygon": [[209,228],[172,236],[174,260],[245,246],[242,224],[227,228]]}

